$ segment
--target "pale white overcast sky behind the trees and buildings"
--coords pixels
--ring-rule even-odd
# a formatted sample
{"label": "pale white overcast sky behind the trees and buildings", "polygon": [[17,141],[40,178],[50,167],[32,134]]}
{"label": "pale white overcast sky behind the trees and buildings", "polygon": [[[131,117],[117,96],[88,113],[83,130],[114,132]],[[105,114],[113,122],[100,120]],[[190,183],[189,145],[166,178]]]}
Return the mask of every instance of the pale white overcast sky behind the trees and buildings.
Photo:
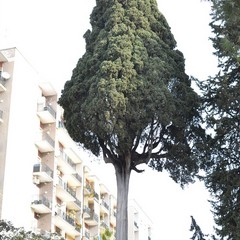
{"label": "pale white overcast sky behind the trees and buildings", "polygon": [[[89,16],[94,6],[95,0],[0,0],[0,48],[17,47],[60,92],[85,52],[83,34],[90,28]],[[202,80],[213,75],[217,60],[208,40],[209,3],[158,0],[158,6],[184,54],[187,74]],[[111,166],[95,165],[102,178],[112,183],[109,188],[114,189]],[[130,197],[152,220],[152,240],[188,240],[190,215],[204,232],[211,231],[208,193],[202,184],[190,185],[183,191],[166,173],[146,168],[144,174],[132,174]]]}

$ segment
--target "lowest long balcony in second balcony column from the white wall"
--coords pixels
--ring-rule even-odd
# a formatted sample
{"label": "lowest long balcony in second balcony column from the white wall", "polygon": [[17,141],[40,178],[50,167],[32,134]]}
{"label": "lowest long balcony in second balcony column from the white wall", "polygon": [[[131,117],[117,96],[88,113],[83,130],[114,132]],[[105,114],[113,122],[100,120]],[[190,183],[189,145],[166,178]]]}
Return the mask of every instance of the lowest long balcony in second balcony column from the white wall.
{"label": "lowest long balcony in second balcony column from the white wall", "polygon": [[64,231],[71,237],[75,238],[77,236],[80,236],[80,227],[76,224],[74,218],[69,216],[66,212],[58,209],[55,213],[54,220],[55,225],[60,229],[64,229]]}

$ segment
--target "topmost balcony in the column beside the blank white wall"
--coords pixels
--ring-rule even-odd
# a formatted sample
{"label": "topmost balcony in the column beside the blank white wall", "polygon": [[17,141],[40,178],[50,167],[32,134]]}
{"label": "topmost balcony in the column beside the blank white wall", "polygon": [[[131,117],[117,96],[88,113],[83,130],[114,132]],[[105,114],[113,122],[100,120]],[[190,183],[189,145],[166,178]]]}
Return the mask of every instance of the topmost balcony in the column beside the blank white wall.
{"label": "topmost balcony in the column beside the blank white wall", "polygon": [[54,123],[56,121],[56,111],[50,106],[38,105],[37,115],[43,124]]}

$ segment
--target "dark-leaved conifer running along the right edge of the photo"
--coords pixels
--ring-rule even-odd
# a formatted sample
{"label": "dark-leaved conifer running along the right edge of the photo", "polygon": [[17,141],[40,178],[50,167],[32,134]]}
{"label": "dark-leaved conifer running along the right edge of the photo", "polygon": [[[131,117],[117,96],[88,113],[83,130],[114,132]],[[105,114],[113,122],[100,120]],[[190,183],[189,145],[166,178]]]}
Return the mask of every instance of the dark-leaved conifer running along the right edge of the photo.
{"label": "dark-leaved conifer running along the right edge of the photo", "polygon": [[212,1],[212,38],[219,73],[201,84],[209,130],[202,167],[212,193],[216,232],[240,239],[240,2]]}

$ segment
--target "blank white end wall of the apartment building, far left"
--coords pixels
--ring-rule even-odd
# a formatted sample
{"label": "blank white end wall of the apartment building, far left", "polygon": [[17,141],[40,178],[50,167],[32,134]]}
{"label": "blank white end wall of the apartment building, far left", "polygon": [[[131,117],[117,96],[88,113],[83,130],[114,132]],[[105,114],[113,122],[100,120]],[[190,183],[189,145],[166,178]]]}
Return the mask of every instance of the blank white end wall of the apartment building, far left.
{"label": "blank white end wall of the apartment building, far left", "polygon": [[0,50],[0,71],[0,217],[25,225],[32,218],[28,206],[36,192],[31,172],[38,156],[34,141],[42,90],[35,70],[15,48]]}

